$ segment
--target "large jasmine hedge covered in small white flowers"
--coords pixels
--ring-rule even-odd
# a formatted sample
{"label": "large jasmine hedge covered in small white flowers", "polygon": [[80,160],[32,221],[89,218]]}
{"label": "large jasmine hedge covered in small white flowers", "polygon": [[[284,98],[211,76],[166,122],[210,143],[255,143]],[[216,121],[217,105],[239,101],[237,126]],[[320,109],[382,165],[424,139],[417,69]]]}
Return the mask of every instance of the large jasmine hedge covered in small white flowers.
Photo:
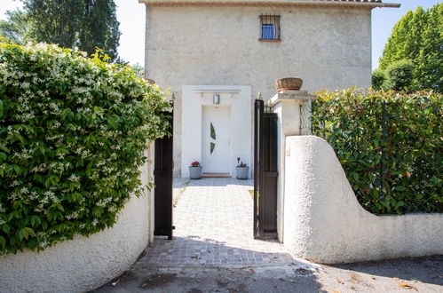
{"label": "large jasmine hedge covered in small white flowers", "polygon": [[113,226],[168,107],[99,54],[0,39],[0,255]]}

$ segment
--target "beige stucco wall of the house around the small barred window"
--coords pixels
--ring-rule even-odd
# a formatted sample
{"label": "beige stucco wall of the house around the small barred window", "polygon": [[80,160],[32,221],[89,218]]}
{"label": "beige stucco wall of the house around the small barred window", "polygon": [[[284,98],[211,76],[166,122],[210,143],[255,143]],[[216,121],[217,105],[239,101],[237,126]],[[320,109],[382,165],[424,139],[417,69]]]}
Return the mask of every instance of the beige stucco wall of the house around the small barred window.
{"label": "beige stucco wall of the house around the small barred window", "polygon": [[[258,41],[263,13],[281,14],[281,42]],[[249,99],[259,91],[272,97],[273,80],[285,76],[302,77],[310,92],[368,87],[370,14],[368,7],[146,6],[146,76],[177,98],[175,166],[183,85],[249,85]]]}

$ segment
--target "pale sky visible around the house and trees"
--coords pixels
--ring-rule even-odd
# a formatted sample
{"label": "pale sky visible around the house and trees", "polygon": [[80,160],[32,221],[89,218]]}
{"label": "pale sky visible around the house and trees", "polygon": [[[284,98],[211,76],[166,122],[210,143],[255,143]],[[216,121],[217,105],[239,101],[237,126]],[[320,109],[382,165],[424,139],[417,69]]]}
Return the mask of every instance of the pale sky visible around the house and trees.
{"label": "pale sky visible around the house and trees", "polygon": [[[384,44],[391,35],[395,23],[418,6],[430,8],[441,3],[438,0],[384,0],[384,3],[401,4],[400,8],[376,8],[372,11],[372,68],[378,66]],[[144,64],[145,51],[145,6],[138,0],[115,0],[117,20],[120,21],[119,55],[131,64]],[[5,20],[4,12],[21,7],[18,0],[0,0],[0,20]]]}

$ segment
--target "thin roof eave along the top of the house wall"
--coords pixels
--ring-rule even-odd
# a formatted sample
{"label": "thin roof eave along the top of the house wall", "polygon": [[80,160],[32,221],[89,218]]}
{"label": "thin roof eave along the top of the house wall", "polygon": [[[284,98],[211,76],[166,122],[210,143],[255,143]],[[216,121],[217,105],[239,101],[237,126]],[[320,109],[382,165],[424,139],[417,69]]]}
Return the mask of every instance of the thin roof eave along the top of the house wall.
{"label": "thin roof eave along the top of the house wall", "polygon": [[401,4],[394,3],[380,3],[380,2],[347,2],[347,1],[308,1],[308,0],[253,0],[253,1],[241,1],[241,0],[138,0],[140,4],[146,5],[229,5],[229,4],[242,4],[242,5],[312,5],[312,6],[352,6],[360,8],[376,8],[376,7],[391,7],[398,8]]}

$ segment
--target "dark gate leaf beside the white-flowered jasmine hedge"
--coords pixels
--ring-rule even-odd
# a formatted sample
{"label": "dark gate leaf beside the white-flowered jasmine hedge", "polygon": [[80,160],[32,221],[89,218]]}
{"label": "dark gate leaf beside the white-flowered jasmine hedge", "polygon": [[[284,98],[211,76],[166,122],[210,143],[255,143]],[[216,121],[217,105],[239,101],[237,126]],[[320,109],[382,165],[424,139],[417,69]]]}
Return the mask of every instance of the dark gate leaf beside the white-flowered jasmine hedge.
{"label": "dark gate leaf beside the white-flowered jasmine hedge", "polygon": [[155,139],[154,156],[154,235],[172,239],[172,113],[169,117],[169,137]]}

